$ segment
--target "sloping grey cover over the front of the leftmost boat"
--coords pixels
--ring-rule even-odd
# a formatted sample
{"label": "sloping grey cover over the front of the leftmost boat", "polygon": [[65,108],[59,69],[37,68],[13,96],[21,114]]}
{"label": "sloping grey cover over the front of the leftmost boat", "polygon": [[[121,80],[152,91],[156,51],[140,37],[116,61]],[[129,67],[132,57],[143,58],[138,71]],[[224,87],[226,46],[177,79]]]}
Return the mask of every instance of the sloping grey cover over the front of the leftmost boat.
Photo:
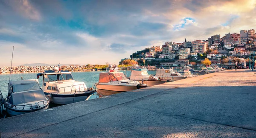
{"label": "sloping grey cover over the front of the leftmost boat", "polygon": [[13,93],[9,99],[12,105],[24,104],[32,101],[47,100],[43,90],[35,90],[23,93]]}

